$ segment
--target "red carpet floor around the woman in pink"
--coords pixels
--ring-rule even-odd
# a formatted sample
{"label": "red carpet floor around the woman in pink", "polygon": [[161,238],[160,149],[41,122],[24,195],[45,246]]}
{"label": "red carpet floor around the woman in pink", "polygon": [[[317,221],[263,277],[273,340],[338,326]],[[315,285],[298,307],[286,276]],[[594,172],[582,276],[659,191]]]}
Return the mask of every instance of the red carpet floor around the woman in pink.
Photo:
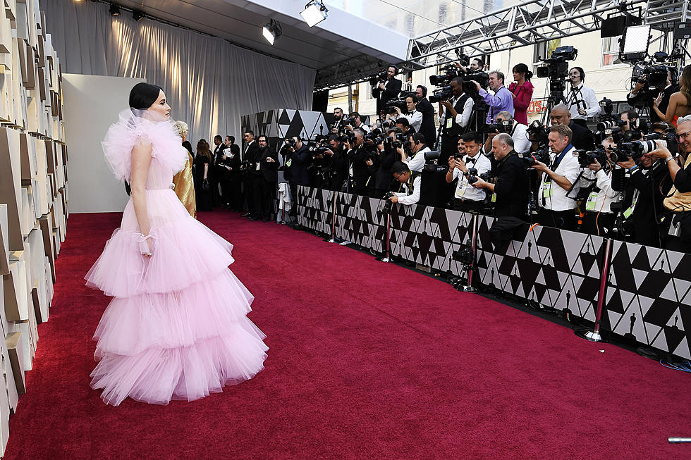
{"label": "red carpet floor around the woman in pink", "polygon": [[[197,402],[89,387],[118,226],[73,214],[6,459],[689,459],[691,375],[314,235],[224,211],[267,368]],[[604,349],[604,353],[599,352]]]}

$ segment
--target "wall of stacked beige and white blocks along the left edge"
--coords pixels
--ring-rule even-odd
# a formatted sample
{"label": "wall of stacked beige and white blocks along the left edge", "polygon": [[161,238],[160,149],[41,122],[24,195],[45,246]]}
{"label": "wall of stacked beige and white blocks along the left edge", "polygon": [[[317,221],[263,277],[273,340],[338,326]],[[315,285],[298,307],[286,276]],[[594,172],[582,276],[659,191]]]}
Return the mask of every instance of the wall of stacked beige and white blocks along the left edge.
{"label": "wall of stacked beige and white blocks along the left edge", "polygon": [[[61,68],[38,0],[0,2],[0,455],[48,321],[68,217]],[[38,416],[38,415],[37,415]]]}

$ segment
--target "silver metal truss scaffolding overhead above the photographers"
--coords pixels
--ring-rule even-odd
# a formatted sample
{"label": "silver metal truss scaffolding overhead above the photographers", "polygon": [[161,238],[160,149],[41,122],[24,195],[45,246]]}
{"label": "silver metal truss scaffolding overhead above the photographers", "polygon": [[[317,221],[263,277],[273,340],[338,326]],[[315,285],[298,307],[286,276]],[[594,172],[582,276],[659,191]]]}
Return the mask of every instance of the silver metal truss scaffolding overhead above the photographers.
{"label": "silver metal truss scaffolding overhead above the photographers", "polygon": [[[551,39],[599,30],[610,13],[641,8],[644,23],[664,32],[687,20],[690,0],[524,0],[520,4],[467,19],[410,40],[402,70],[439,66],[458,59],[456,51],[484,55]],[[461,1],[465,3],[465,0]],[[357,56],[317,71],[315,89],[360,82],[386,63]]]}

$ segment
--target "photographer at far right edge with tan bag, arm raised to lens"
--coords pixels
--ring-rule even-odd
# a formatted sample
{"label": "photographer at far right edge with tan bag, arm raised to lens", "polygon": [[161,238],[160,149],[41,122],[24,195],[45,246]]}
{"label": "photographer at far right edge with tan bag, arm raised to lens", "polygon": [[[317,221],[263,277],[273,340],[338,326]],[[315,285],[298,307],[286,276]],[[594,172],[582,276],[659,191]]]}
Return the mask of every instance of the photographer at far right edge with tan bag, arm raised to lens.
{"label": "photographer at far right edge with tan bag, arm raised to lens", "polygon": [[678,232],[671,228],[665,247],[675,251],[691,252],[691,115],[681,117],[677,121],[677,136],[679,150],[686,154],[684,166],[669,151],[666,144],[656,141],[657,149],[647,154],[653,158],[660,158],[667,166],[667,172],[674,185],[664,199],[664,206],[673,213],[672,224]]}

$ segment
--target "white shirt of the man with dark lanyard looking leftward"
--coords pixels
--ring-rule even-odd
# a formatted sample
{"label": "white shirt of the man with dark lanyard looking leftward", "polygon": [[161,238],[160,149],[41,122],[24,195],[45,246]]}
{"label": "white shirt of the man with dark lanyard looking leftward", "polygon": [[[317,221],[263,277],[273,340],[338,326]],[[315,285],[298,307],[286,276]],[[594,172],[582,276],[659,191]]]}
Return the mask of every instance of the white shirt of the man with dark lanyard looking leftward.
{"label": "white shirt of the man with dark lanyard looking leftward", "polygon": [[[551,180],[546,173],[543,173],[542,183],[540,184],[537,198],[537,203],[542,208],[548,209],[549,211],[568,211],[570,209],[575,209],[575,197],[580,189],[580,184],[574,183],[580,174],[580,164],[578,163],[578,156],[574,156],[575,151],[575,147],[571,146],[564,154],[556,169],[553,169],[554,167],[551,165],[554,165],[554,161],[556,161],[559,155],[551,152],[551,161],[547,167],[558,175],[563,175],[574,185],[572,190],[568,192],[568,190],[563,189],[560,185],[557,185],[556,182]],[[568,197],[566,196],[567,192]]]}

